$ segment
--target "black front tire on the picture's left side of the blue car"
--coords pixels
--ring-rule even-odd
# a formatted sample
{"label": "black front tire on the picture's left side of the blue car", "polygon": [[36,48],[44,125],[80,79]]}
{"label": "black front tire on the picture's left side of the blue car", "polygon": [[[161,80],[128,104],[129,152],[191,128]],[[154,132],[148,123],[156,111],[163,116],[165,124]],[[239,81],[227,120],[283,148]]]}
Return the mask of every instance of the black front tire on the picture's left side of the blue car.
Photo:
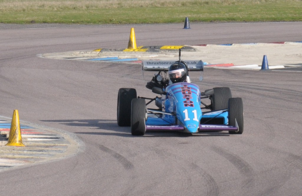
{"label": "black front tire on the picture's left side of the blue car", "polygon": [[146,101],[133,99],[131,103],[131,134],[144,135],[146,133]]}

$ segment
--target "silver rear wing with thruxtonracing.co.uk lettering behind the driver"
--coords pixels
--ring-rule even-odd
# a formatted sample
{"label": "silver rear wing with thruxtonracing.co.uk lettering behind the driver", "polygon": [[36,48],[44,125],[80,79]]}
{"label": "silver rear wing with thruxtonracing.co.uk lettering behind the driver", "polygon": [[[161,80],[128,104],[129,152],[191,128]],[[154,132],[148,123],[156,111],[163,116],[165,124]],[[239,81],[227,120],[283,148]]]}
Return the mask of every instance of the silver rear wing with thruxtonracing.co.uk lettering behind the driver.
{"label": "silver rear wing with thruxtonracing.co.uk lettering behind the driver", "polygon": [[[178,61],[176,61],[178,62]],[[200,71],[201,75],[199,80],[203,79],[204,63],[201,60],[197,61],[182,61],[188,65],[188,71]],[[170,65],[175,61],[142,61],[142,72],[144,77],[144,71],[163,71],[167,72]]]}

